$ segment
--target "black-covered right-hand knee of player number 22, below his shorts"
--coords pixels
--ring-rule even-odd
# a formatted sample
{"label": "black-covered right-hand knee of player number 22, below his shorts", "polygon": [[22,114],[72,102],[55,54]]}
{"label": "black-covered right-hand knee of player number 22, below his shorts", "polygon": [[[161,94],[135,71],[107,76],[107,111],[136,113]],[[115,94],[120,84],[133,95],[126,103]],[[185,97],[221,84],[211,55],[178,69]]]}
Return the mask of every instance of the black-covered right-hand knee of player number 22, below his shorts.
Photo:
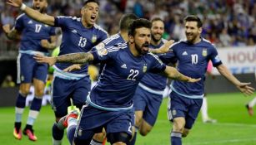
{"label": "black-covered right-hand knee of player number 22, below his shorts", "polygon": [[110,142],[111,144],[128,143],[131,135],[129,135],[128,133],[108,133],[107,138],[108,142]]}

